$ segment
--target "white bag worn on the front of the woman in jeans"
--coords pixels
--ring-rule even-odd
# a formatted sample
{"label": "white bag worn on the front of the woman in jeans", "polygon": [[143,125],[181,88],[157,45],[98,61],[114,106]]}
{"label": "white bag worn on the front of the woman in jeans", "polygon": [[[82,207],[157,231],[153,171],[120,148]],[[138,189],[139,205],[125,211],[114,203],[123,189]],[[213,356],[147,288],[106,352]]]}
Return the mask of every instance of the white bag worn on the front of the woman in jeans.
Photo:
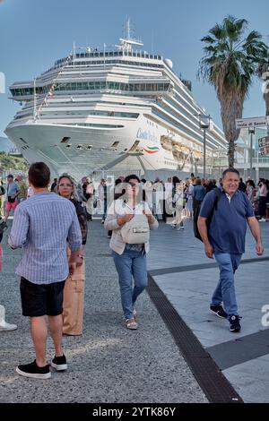
{"label": "white bag worn on the front of the woman in jeans", "polygon": [[141,245],[150,240],[150,226],[145,215],[134,215],[121,228],[120,234],[128,245]]}

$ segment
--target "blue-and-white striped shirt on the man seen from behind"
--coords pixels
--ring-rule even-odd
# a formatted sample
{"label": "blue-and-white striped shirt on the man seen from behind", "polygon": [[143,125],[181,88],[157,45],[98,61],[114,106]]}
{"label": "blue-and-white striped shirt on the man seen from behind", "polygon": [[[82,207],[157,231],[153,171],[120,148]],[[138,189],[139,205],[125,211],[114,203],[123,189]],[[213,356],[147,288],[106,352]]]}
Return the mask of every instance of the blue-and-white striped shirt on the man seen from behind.
{"label": "blue-and-white striped shirt on the man seen from behind", "polygon": [[16,274],[34,284],[50,284],[68,277],[66,241],[71,251],[82,245],[74,204],[56,193],[36,193],[15,212],[8,243],[22,247]]}

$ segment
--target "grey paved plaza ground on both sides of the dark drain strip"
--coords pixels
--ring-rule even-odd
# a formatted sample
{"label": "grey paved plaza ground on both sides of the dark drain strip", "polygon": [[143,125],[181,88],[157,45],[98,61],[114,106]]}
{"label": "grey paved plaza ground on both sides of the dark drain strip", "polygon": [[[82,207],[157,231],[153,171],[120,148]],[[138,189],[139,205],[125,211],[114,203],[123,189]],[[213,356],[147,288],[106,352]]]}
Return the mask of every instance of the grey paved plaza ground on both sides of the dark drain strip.
{"label": "grey paved plaza ground on both sides of the dark drain strip", "polygon": [[[84,332],[64,338],[68,370],[53,373],[46,381],[15,372],[17,364],[33,359],[33,347],[14,275],[22,252],[11,251],[4,236],[1,304],[7,322],[18,324],[18,330],[0,332],[0,402],[207,402],[195,371],[147,293],[137,305],[139,330],[126,330],[107,232],[99,219],[89,228]],[[261,228],[265,257],[257,258],[247,234],[247,253],[236,275],[243,317],[238,334],[230,333],[229,323],[208,311],[218,269],[204,256],[191,221],[184,231],[161,222],[152,231],[148,258],[149,274],[161,293],[246,402],[269,402],[269,330],[261,322],[261,308],[269,305],[269,223]],[[48,357],[52,354],[48,339]]]}

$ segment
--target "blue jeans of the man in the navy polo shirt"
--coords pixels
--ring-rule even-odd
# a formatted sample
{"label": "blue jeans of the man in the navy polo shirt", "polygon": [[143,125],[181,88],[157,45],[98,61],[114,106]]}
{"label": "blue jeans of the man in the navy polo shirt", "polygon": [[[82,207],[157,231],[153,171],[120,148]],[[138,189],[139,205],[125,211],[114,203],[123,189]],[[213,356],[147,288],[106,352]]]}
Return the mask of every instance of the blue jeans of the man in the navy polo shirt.
{"label": "blue jeans of the man in the navy polo shirt", "polygon": [[221,305],[228,316],[238,314],[238,305],[234,288],[234,273],[239,267],[242,254],[215,253],[214,258],[219,264],[220,280],[212,297],[211,305]]}

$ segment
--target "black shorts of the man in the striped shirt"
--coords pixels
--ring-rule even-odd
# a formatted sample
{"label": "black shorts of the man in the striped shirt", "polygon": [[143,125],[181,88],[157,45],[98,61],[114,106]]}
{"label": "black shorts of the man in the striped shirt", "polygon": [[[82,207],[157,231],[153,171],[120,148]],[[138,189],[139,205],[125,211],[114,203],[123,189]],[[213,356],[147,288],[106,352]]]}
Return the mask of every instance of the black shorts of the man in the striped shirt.
{"label": "black shorts of the man in the striped shirt", "polygon": [[38,317],[63,313],[65,281],[53,284],[33,284],[21,278],[22,315]]}

